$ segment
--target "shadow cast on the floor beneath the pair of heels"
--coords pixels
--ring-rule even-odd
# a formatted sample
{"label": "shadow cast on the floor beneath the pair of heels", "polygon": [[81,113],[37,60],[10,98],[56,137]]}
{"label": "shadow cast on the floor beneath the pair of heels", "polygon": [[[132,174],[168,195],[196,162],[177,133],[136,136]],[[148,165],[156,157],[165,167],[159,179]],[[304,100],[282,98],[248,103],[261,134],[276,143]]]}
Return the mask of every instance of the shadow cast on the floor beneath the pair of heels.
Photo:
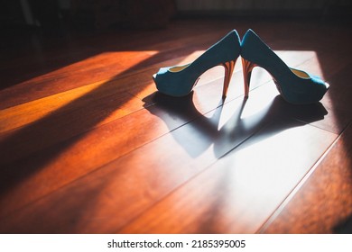
{"label": "shadow cast on the floor beneath the pair of heels", "polygon": [[[210,147],[215,157],[221,158],[255,134],[259,134],[259,139],[265,139],[283,130],[320,121],[328,114],[321,103],[292,105],[283,101],[280,95],[249,116],[244,116],[247,100],[241,98],[225,104],[220,100],[214,110],[203,114],[193,103],[193,96],[194,92],[185,97],[155,92],[144,98],[144,101],[155,103],[145,108],[165,122],[172,137],[193,158],[199,157]],[[160,110],[168,114],[167,118]],[[175,127],[170,118],[184,123]],[[269,129],[260,131],[271,123],[274,124]]]}

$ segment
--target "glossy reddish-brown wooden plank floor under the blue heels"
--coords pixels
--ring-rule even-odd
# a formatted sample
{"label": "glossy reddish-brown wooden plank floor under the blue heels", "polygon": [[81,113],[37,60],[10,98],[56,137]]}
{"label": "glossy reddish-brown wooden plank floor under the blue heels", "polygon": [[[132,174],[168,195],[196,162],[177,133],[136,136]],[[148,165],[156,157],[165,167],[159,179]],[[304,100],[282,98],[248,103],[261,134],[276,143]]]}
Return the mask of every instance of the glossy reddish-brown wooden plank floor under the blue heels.
{"label": "glossy reddish-brown wooden plank floor under the blue heels", "polygon": [[[236,29],[330,84],[321,103],[283,102],[237,60],[194,92],[156,92]],[[326,21],[178,20],[168,29],[2,41],[1,233],[351,232],[352,31]]]}

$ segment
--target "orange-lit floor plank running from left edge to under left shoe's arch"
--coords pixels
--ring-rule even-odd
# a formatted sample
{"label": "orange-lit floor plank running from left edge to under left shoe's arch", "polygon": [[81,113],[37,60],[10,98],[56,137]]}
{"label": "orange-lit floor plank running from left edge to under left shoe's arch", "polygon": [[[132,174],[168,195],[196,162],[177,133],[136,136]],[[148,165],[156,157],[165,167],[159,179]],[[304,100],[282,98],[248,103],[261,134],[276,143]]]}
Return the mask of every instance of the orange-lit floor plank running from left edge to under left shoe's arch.
{"label": "orange-lit floor plank running from left edge to under left shoe's arch", "polygon": [[[221,85],[214,84],[214,86],[218,88]],[[202,113],[218,107],[221,101],[221,90],[218,90],[218,96],[214,96],[213,92],[214,89],[209,88],[202,93],[203,99],[207,101],[206,105],[205,103],[199,103],[201,100],[197,99],[193,99],[195,103],[193,104],[191,96],[181,100],[180,103],[180,99],[169,101],[164,96],[158,95],[156,98],[154,97],[154,100],[162,103],[159,106],[147,107],[135,112],[133,116],[120,118],[82,136],[69,139],[52,148],[44,149],[35,155],[10,162],[2,170],[3,192],[10,184],[14,184],[16,181],[18,183],[31,173],[33,175],[30,179],[27,178],[27,181],[22,181],[20,186],[15,187],[14,192],[10,190],[5,194],[1,203],[3,205],[1,210],[13,211],[14,207],[18,208],[19,205],[41,197],[43,194],[51,193],[52,190],[62,184],[77,179],[79,175],[85,175],[88,171],[103,166],[113,159],[134,150],[134,148],[141,147],[169,131],[194,121],[201,117]],[[197,109],[195,106],[197,106]],[[138,123],[138,121],[144,121],[144,123]],[[145,130],[146,126],[153,130]],[[131,133],[127,134],[129,131]],[[29,140],[29,143],[31,142]],[[31,146],[28,146],[28,148],[31,148]],[[95,149],[99,149],[104,155],[99,157],[92,155],[92,153],[95,153]],[[56,157],[59,154],[60,156]],[[70,157],[75,158],[73,160]],[[45,169],[42,170],[42,166]],[[75,168],[79,166],[79,169]],[[52,182],[42,184],[41,181]],[[28,190],[30,188],[31,190]],[[22,197],[23,193],[26,194],[25,199],[18,201],[16,195]]]}

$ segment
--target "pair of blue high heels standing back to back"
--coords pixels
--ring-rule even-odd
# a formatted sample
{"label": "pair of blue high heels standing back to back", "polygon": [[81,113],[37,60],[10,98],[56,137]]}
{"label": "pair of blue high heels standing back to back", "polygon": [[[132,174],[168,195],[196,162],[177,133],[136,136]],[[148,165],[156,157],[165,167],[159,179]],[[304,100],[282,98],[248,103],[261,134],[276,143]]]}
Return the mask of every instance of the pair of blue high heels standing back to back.
{"label": "pair of blue high heels standing back to back", "polygon": [[241,56],[245,97],[248,97],[249,83],[254,67],[266,69],[277,86],[283,99],[288,103],[317,103],[329,89],[329,84],[318,76],[288,67],[255,31],[248,30],[242,42],[236,30],[230,31],[224,38],[207,49],[192,63],[183,66],[162,67],[153,75],[157,89],[162,94],[185,96],[197,85],[199,76],[211,67],[225,67],[223,98],[236,64]]}

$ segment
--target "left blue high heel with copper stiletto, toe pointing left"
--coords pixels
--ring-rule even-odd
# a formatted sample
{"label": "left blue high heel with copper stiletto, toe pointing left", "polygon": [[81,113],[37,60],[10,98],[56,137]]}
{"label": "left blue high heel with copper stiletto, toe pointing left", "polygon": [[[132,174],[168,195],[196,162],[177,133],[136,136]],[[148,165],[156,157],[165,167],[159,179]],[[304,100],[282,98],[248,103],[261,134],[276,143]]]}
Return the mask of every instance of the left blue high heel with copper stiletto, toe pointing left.
{"label": "left blue high heel with copper stiletto, toe pointing left", "polygon": [[199,76],[212,67],[225,67],[223,98],[240,54],[240,40],[236,30],[230,31],[224,38],[207,49],[192,63],[183,66],[162,67],[153,75],[157,89],[162,94],[185,96],[197,85]]}

